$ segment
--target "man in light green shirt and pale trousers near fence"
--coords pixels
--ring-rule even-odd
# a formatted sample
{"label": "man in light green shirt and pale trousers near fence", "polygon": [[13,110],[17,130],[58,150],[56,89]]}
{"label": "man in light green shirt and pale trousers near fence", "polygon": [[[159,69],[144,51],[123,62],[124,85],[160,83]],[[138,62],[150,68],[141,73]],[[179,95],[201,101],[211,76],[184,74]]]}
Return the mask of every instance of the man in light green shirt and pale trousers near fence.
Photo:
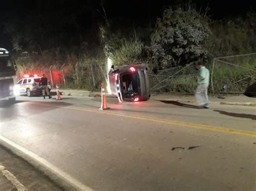
{"label": "man in light green shirt and pale trousers near fence", "polygon": [[197,64],[198,73],[198,87],[195,93],[197,103],[200,107],[210,108],[208,103],[207,90],[210,82],[210,72],[201,63]]}

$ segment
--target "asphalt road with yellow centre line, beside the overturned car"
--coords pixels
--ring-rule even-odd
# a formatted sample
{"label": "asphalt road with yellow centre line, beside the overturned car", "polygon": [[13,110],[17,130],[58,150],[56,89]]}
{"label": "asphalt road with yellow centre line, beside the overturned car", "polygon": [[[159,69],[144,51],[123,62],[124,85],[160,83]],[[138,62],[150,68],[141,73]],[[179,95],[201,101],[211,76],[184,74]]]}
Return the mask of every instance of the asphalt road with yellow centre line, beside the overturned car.
{"label": "asphalt road with yellow centre line, beside the overturned car", "polygon": [[107,102],[21,96],[0,135],[93,190],[256,190],[255,107]]}

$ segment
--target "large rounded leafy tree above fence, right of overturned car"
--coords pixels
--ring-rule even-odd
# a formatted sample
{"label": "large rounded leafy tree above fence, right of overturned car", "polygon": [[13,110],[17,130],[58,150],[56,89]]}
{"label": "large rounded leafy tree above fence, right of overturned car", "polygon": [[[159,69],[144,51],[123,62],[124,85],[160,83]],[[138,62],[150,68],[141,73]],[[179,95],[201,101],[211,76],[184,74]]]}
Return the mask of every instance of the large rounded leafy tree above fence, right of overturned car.
{"label": "large rounded leafy tree above fence, right of overturned car", "polygon": [[207,17],[196,10],[166,9],[151,35],[154,69],[182,66],[206,58],[203,45],[210,33]]}

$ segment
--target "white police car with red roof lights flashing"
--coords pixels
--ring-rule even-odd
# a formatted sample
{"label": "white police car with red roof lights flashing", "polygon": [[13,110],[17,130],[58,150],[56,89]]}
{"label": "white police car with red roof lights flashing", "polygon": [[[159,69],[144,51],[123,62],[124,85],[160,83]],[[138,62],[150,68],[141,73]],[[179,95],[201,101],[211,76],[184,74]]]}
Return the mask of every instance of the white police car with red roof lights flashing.
{"label": "white police car with red roof lights flashing", "polygon": [[[19,93],[26,94],[28,97],[32,95],[42,95],[42,87],[39,82],[42,77],[35,75],[24,75],[24,78],[18,81]],[[48,82],[49,91],[51,90],[50,82]]]}

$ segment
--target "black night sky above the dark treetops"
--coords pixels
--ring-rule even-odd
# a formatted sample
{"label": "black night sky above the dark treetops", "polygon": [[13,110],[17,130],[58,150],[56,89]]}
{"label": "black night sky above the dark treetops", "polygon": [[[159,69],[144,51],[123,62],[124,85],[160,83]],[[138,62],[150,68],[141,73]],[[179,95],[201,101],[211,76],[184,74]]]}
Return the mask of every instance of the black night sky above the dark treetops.
{"label": "black night sky above the dark treetops", "polygon": [[[12,17],[19,13],[29,13],[35,11],[35,8],[40,9],[45,3],[52,3],[57,5],[59,9],[69,10],[67,16],[72,15],[72,12],[87,12],[83,13],[83,22],[97,22],[102,19],[96,9],[100,9],[99,0],[90,1],[66,1],[66,0],[56,0],[56,1],[39,1],[39,0],[23,0],[15,1],[8,0],[0,1],[0,13],[7,13],[8,17]],[[149,23],[156,20],[163,13],[164,7],[170,5],[175,5],[179,3],[187,2],[185,0],[156,0],[156,1],[146,1],[146,0],[127,0],[127,1],[108,1],[104,0],[104,8],[106,9],[107,16],[114,23],[123,25],[139,25],[142,26],[145,23]],[[224,17],[233,18],[236,16],[244,16],[247,11],[255,12],[255,0],[244,0],[244,1],[214,1],[214,0],[194,0],[193,4],[196,4],[196,8],[199,10],[205,10],[206,6],[210,8],[208,15],[212,20],[222,19]],[[55,8],[56,9],[56,8]],[[48,14],[47,10],[42,10],[44,14]],[[87,15],[86,15],[87,14]],[[2,18],[2,17],[1,17]],[[62,18],[59,18],[62,19]],[[1,22],[1,21],[0,21]],[[0,23],[0,46],[5,46],[9,43],[8,36],[3,34],[3,25]],[[7,46],[7,45],[6,45]]]}

